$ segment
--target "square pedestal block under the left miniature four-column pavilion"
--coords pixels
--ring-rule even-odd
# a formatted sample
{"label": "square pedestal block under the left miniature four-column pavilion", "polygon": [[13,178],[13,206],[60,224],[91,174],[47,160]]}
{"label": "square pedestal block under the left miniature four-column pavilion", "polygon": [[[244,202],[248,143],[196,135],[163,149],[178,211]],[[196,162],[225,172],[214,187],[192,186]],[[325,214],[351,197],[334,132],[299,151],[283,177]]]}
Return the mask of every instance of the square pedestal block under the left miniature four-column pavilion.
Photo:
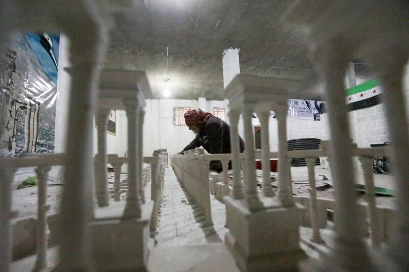
{"label": "square pedestal block under the left miniature four-column pavilion", "polygon": [[[116,202],[105,211],[104,208],[97,210],[101,214],[104,211],[106,217],[99,217],[97,212],[97,218],[91,224],[93,257],[98,271],[146,271],[149,222],[154,204],[147,201],[142,205],[140,218],[121,219],[124,204]],[[114,213],[118,216],[115,217]]]}

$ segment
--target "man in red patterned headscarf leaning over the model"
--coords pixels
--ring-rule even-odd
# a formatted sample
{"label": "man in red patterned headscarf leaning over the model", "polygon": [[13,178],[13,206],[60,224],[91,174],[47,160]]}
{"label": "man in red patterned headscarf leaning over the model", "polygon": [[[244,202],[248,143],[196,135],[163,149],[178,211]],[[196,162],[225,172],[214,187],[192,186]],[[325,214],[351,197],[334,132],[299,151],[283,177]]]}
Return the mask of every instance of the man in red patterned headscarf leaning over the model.
{"label": "man in red patterned headscarf leaning over the model", "polygon": [[[189,110],[185,113],[184,117],[189,130],[193,131],[196,137],[180,154],[199,146],[202,146],[210,154],[231,153],[230,126],[225,121],[201,109]],[[239,143],[240,152],[243,152],[244,142],[240,136]],[[211,161],[209,169],[217,172],[221,171],[221,162]],[[229,162],[229,169],[231,169],[231,162]]]}

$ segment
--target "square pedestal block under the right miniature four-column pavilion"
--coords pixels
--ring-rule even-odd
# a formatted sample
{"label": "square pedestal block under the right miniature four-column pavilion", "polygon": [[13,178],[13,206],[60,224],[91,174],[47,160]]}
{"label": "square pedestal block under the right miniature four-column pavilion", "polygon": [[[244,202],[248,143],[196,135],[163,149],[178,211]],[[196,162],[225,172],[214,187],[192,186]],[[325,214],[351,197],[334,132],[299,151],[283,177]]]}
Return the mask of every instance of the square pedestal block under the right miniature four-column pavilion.
{"label": "square pedestal block under the right miniature four-column pavilion", "polygon": [[251,212],[242,200],[224,197],[230,232],[225,244],[243,271],[297,270],[306,255],[300,249],[302,213],[299,204],[282,207],[278,197],[259,194],[264,209]]}

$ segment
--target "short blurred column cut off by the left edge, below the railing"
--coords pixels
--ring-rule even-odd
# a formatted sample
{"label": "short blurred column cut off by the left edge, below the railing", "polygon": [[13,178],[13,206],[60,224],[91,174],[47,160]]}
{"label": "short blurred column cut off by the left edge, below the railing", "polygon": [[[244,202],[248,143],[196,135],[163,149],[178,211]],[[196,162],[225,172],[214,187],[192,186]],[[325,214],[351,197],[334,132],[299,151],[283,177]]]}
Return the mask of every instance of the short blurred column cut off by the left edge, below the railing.
{"label": "short blurred column cut off by the left edge, below the railing", "polygon": [[14,180],[14,168],[6,168],[0,165],[0,267],[2,270],[8,272],[11,264],[11,245],[12,245],[12,230],[11,219],[17,213],[11,211],[11,203],[13,190],[11,185]]}

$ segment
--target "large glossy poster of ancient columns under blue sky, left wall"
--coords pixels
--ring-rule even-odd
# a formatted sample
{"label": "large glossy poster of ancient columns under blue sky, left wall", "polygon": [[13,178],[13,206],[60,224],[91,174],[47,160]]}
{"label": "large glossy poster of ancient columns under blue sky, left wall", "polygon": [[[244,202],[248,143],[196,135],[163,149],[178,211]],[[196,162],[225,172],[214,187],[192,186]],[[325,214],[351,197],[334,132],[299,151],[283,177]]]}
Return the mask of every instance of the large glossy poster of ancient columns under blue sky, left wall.
{"label": "large glossy poster of ancient columns under blue sky, left wall", "polygon": [[54,152],[59,35],[13,33],[0,48],[0,156]]}

